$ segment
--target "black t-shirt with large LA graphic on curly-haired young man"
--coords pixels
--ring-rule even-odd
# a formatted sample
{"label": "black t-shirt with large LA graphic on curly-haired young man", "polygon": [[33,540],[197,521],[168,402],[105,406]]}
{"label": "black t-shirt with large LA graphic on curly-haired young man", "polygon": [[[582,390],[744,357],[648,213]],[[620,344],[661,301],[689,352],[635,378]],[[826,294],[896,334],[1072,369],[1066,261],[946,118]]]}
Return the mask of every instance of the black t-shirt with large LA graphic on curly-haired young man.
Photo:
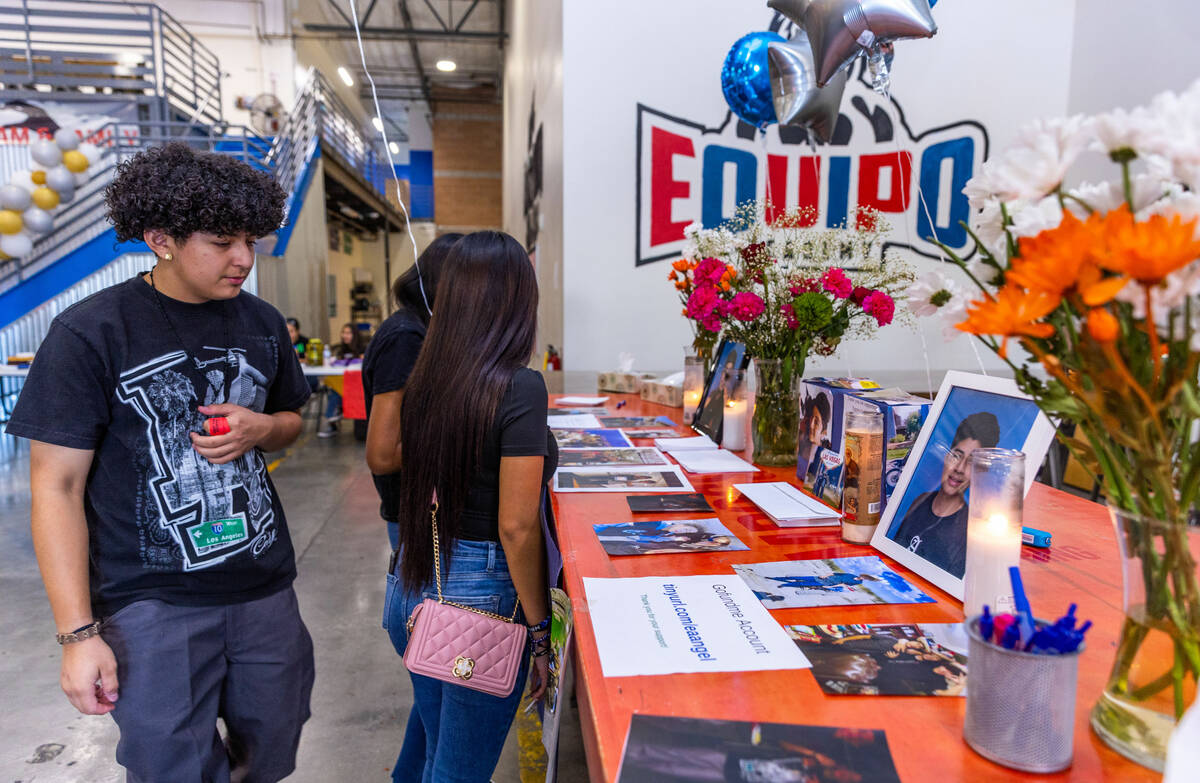
{"label": "black t-shirt with large LA graphic on curly-haired young man", "polygon": [[161,303],[169,324],[138,276],[59,315],[7,428],[95,452],[84,512],[97,617],[144,598],[253,600],[295,578],[262,453],[212,465],[188,436],[203,432],[200,405],[276,413],[305,404],[308,383],[283,316],[245,292]]}

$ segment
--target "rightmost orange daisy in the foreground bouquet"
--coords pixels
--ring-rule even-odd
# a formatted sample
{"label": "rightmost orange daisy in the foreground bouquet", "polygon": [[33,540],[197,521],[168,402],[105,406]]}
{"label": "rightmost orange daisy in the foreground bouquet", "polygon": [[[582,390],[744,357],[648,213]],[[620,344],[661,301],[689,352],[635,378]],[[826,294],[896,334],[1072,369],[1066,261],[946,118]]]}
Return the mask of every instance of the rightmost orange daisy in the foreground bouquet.
{"label": "rightmost orange daisy in the foreground bouquet", "polygon": [[1178,215],[1151,215],[1136,221],[1122,205],[1105,215],[1105,247],[1097,259],[1105,269],[1157,286],[1200,258],[1195,231],[1196,219],[1184,222]]}

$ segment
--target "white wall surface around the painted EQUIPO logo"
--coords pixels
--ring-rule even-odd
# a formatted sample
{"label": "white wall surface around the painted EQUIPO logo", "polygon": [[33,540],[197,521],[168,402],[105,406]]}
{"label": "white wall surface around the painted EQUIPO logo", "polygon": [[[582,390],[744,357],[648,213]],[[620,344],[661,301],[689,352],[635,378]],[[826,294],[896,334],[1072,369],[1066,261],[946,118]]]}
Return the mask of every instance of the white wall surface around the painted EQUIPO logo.
{"label": "white wall surface around the painted EQUIPO logo", "polygon": [[[635,267],[637,104],[719,126],[726,116],[725,54],[745,32],[766,30],[773,13],[764,2],[728,0],[562,5],[565,367],[612,369],[623,351],[635,353],[642,369],[678,367],[691,337],[666,281],[670,258]],[[914,132],[976,120],[995,151],[1024,121],[1067,110],[1074,1],[947,1],[935,16],[937,36],[896,44],[893,96]],[[846,102],[842,110],[852,112]],[[865,151],[859,138],[856,132],[852,156]],[[738,144],[758,154],[761,197],[762,143],[730,142]],[[776,147],[775,133],[768,144],[790,156],[804,151]],[[870,149],[874,141],[863,144]],[[694,185],[692,198],[676,202],[674,220],[698,219],[697,191]],[[896,225],[892,239],[905,241],[905,228]],[[918,271],[938,263],[911,257]],[[979,366],[966,339],[943,345],[940,325],[923,328],[935,385],[942,370]],[[812,363],[810,370],[870,372],[884,382],[924,385],[923,353],[920,336],[898,325],[875,342],[845,346],[840,357]]]}

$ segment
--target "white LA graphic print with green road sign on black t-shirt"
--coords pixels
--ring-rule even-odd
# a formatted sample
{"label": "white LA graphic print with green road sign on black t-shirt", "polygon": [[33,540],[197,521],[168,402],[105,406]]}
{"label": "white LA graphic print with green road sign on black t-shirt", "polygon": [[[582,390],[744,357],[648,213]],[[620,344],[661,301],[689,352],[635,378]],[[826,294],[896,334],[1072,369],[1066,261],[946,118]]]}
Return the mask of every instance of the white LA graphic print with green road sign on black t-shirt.
{"label": "white LA graphic print with green road sign on black t-shirt", "polygon": [[[258,557],[275,543],[277,531],[266,465],[257,449],[224,465],[214,465],[193,447],[190,432],[203,432],[199,405],[229,402],[262,412],[266,402],[266,376],[246,359],[241,348],[205,346],[214,358],[196,360],[205,379],[200,400],[182,351],[174,351],[120,376],[116,395],[146,423],[151,474],[148,482],[157,506],[157,525],[182,556],[185,572],[209,568],[250,550]],[[157,538],[157,537],[155,537]],[[151,563],[146,563],[148,567]],[[161,563],[154,563],[161,564]]]}

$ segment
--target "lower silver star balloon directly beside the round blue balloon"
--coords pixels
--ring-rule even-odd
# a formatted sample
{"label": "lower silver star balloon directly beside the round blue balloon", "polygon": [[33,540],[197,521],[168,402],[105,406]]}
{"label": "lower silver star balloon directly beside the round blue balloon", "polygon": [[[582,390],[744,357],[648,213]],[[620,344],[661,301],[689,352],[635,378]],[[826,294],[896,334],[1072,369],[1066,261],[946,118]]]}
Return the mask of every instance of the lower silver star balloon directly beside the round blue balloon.
{"label": "lower silver star balloon directly beside the round blue balloon", "polygon": [[800,30],[791,41],[767,47],[767,72],[779,124],[802,125],[818,142],[828,142],[838,126],[846,71],[835,73],[826,86],[818,86],[812,47]]}

